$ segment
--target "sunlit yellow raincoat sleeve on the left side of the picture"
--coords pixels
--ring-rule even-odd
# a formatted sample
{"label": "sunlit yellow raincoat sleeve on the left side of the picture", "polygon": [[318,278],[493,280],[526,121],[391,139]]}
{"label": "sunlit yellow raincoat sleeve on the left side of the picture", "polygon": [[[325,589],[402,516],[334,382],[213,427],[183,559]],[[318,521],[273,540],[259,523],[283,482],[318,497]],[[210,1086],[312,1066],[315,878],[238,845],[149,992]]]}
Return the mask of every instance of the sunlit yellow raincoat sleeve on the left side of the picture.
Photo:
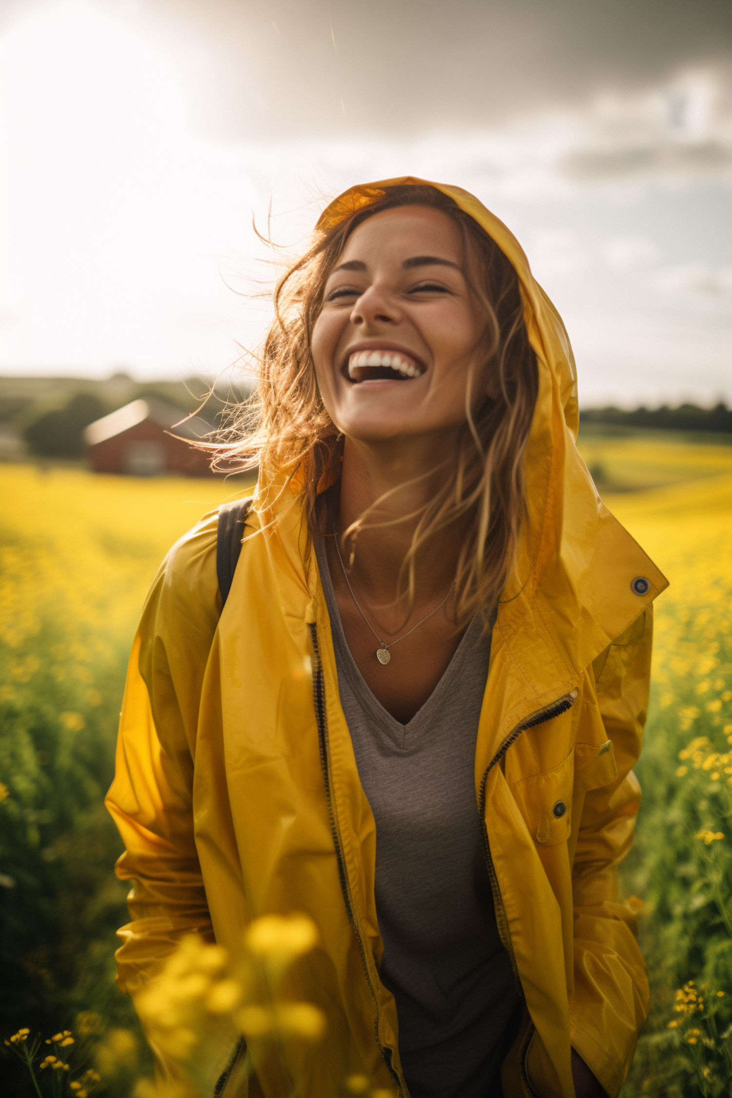
{"label": "sunlit yellow raincoat sleeve on the left side of the picture", "polygon": [[117,985],[135,996],[189,932],[213,938],[193,836],[193,764],[203,675],[222,604],[217,515],[170,550],[147,597],[125,684],[106,806],[132,881],[117,934]]}

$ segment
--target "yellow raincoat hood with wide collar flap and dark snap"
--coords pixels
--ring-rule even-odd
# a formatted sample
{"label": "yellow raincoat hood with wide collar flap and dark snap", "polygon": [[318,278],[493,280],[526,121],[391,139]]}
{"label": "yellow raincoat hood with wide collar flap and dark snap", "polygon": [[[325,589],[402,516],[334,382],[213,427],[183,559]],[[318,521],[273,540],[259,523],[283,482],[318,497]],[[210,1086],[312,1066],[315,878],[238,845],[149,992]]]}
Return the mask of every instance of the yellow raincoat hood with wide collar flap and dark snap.
{"label": "yellow raincoat hood with wide collar flap and dark snap", "polygon": [[[320,215],[327,232],[390,187],[433,187],[483,228],[513,265],[537,356],[539,392],[525,456],[527,520],[503,596],[561,614],[561,659],[579,672],[668,584],[603,504],[576,446],[577,371],[564,324],[514,234],[460,187],[403,176],[349,188]],[[637,583],[635,581],[645,581]],[[517,619],[518,621],[518,619]]]}

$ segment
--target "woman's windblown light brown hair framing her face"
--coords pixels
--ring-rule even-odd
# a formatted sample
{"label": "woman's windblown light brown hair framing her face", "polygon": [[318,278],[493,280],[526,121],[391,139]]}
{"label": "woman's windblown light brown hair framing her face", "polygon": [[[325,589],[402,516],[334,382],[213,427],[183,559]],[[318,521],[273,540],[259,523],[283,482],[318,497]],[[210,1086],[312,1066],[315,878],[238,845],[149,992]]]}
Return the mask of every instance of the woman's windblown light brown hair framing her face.
{"label": "woman's windblown light brown hair framing her face", "polygon": [[[471,395],[469,381],[466,421],[454,459],[446,463],[442,486],[418,514],[404,516],[416,520],[399,585],[409,606],[420,549],[439,529],[457,524],[461,530],[454,612],[458,625],[463,625],[478,610],[487,619],[514,562],[526,509],[522,457],[538,376],[514,267],[488,234],[441,191],[425,184],[390,187],[337,225],[316,232],[309,249],[277,283],[274,320],[263,345],[259,384],[237,411],[227,441],[216,447],[216,460],[229,469],[234,463],[284,473],[296,485],[311,530],[324,525],[318,495],[339,479],[344,438],[318,390],[311,352],[313,327],[328,277],[351,233],[368,217],[404,205],[441,210],[458,225],[465,260],[472,256],[478,272],[472,290],[485,307],[486,354],[499,382],[497,399],[485,394],[481,400],[480,394]],[[425,477],[433,472],[428,470]],[[358,530],[368,524],[369,514],[378,516],[380,502],[347,531],[352,538],[351,559]],[[331,530],[330,525],[320,533]]]}

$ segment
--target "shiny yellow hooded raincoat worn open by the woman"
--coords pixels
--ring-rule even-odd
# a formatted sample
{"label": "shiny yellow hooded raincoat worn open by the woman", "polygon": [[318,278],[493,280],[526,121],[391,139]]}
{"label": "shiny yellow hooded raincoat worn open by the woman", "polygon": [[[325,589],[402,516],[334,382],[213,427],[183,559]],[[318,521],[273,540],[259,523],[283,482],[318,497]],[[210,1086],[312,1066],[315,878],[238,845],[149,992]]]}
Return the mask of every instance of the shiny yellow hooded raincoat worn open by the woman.
{"label": "shiny yellow hooded raincoat worn open by the woman", "polygon": [[[354,188],[320,224],[403,182],[424,181]],[[640,799],[631,768],[652,601],[666,581],[603,505],[577,452],[572,350],[519,245],[472,195],[431,186],[513,262],[539,363],[528,519],[493,630],[475,749],[498,928],[526,1007],[504,1093],[573,1098],[574,1047],[615,1096],[649,1000],[616,866]],[[374,819],[317,562],[280,488],[260,478],[249,528],[275,522],[245,542],[223,613],[215,514],[173,547],[145,605],[108,798],[126,848],[117,874],[134,881],[119,983],[134,997],[191,930],[236,949],[250,919],[307,912],[319,945],[289,990],[325,1011],[325,1041],[316,1053],[289,1050],[283,1067],[258,1065],[248,1085],[235,1068],[224,1094],[288,1098],[294,1082],[301,1098],[335,1098],[361,1072],[407,1098],[394,1000],[379,978]],[[222,1066],[233,1044],[223,1033]]]}

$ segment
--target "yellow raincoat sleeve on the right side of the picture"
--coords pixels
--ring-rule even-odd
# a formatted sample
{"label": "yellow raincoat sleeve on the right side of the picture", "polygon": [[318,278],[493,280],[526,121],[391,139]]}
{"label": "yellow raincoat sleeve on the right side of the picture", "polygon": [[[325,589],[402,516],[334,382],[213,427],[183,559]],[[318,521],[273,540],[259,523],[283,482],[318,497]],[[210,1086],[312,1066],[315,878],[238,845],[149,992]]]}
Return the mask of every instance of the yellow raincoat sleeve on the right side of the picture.
{"label": "yellow raincoat sleeve on the right side of the picture", "polygon": [[616,871],[633,841],[651,676],[652,607],[594,665],[617,778],[585,794],[574,859],[572,1045],[608,1095],[619,1093],[649,1008],[633,911],[618,903]]}

